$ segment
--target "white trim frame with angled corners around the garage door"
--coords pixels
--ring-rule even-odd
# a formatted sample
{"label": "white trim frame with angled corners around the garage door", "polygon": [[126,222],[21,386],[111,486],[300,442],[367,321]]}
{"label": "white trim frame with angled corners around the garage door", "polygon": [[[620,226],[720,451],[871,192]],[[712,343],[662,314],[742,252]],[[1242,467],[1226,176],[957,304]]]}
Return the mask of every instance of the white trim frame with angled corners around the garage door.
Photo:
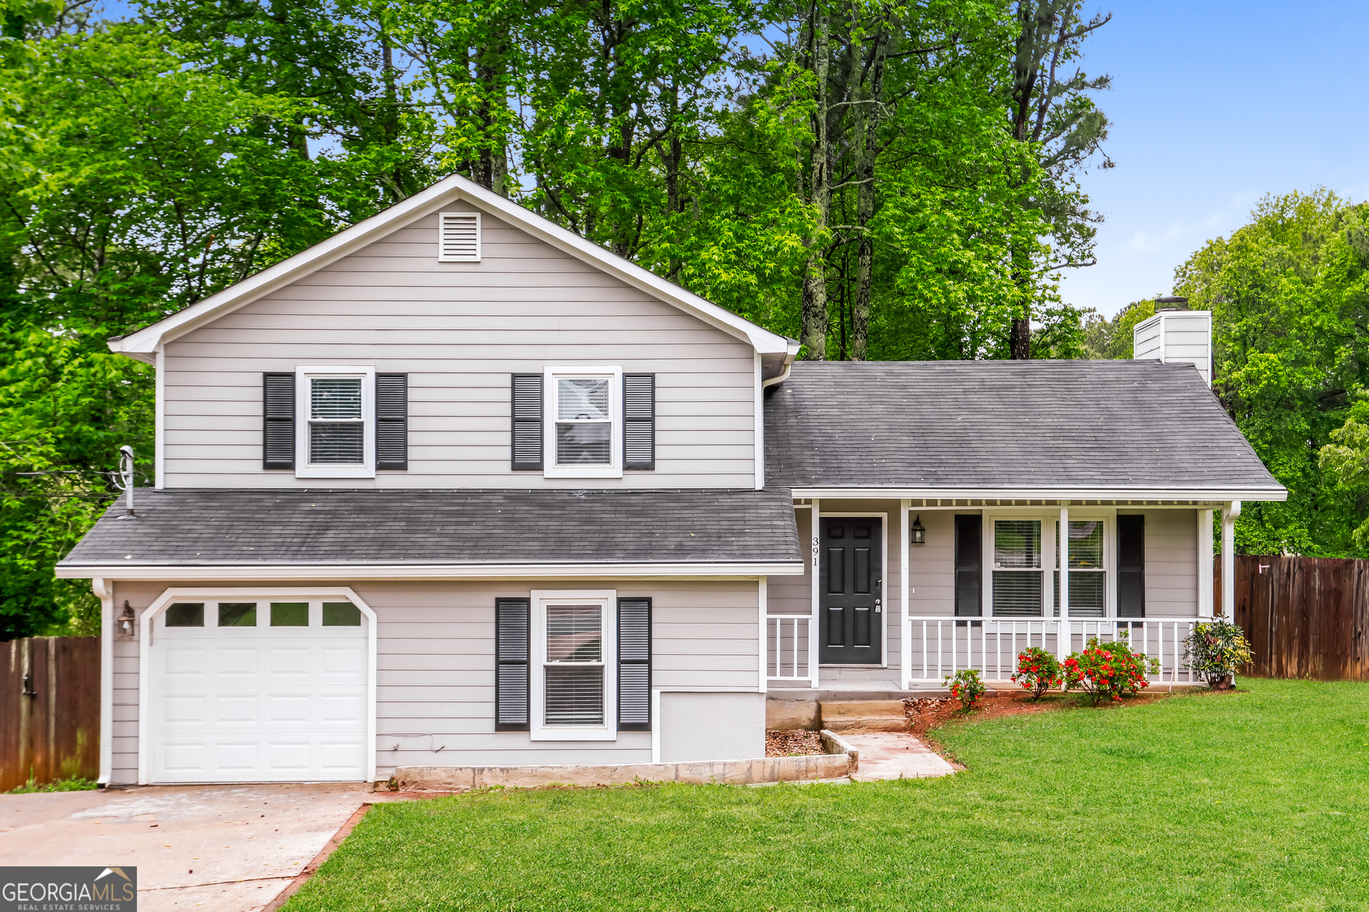
{"label": "white trim frame with angled corners around the garage door", "polygon": [[[105,582],[108,585],[108,582]],[[241,602],[266,602],[272,599],[320,599],[320,598],[344,598],[357,608],[361,614],[367,617],[366,625],[366,639],[367,639],[367,669],[366,669],[366,744],[367,744],[367,759],[366,759],[366,779],[363,782],[375,781],[375,654],[376,654],[376,630],[375,630],[375,611],[371,610],[366,602],[361,600],[353,589],[349,587],[289,587],[289,588],[260,588],[260,587],[242,587],[242,588],[209,588],[209,589],[166,589],[144,610],[142,617],[138,618],[138,785],[149,785],[149,757],[148,757],[148,727],[152,723],[152,718],[148,707],[148,681],[152,680],[152,648],[156,645],[152,636],[152,621],[162,613],[166,606],[177,599],[204,599],[204,600],[231,600],[237,599]],[[179,783],[178,783],[179,785]]]}

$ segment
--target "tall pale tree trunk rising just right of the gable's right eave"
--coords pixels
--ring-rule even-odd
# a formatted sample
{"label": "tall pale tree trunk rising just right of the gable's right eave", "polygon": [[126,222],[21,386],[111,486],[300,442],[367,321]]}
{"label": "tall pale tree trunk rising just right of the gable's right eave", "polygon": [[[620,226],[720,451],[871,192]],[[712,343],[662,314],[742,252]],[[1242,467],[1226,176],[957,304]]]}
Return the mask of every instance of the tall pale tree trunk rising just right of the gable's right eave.
{"label": "tall pale tree trunk rising just right of the gable's right eave", "polygon": [[[827,14],[820,5],[813,8],[813,77],[816,105],[813,112],[812,178],[810,201],[816,211],[813,219],[815,235],[826,235],[827,216],[832,202],[831,150],[827,141],[827,75],[828,75],[828,29]],[[801,314],[799,342],[804,343],[804,358],[808,361],[827,360],[827,263],[824,258],[824,237],[815,237],[808,250],[808,267],[804,273],[804,309]]]}

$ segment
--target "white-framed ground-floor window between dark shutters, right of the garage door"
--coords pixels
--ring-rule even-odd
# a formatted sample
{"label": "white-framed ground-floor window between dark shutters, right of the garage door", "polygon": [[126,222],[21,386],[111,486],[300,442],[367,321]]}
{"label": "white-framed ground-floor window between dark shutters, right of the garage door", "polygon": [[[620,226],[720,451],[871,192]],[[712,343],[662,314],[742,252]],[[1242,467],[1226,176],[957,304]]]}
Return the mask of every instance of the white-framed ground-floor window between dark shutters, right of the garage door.
{"label": "white-framed ground-floor window between dark shutters, right of the garage door", "polygon": [[617,737],[615,592],[534,592],[533,740]]}

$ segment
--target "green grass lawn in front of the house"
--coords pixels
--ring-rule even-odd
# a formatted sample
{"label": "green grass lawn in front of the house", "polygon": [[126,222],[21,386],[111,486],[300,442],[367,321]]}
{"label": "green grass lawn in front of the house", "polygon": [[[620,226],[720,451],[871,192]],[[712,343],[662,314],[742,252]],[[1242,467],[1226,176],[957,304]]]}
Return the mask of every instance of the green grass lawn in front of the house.
{"label": "green grass lawn in front of the house", "polygon": [[1366,909],[1369,685],[953,723],[945,779],[378,805],[285,907]]}

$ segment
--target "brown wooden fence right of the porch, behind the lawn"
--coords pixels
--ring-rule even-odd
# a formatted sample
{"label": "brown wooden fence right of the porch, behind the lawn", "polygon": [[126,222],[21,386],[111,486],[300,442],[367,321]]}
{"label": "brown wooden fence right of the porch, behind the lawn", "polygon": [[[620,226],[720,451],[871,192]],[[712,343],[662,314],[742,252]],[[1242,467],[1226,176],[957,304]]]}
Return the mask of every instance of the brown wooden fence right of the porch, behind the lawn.
{"label": "brown wooden fence right of the porch, behind the lawn", "polygon": [[1369,561],[1238,554],[1235,563],[1236,623],[1255,654],[1243,674],[1369,681]]}

